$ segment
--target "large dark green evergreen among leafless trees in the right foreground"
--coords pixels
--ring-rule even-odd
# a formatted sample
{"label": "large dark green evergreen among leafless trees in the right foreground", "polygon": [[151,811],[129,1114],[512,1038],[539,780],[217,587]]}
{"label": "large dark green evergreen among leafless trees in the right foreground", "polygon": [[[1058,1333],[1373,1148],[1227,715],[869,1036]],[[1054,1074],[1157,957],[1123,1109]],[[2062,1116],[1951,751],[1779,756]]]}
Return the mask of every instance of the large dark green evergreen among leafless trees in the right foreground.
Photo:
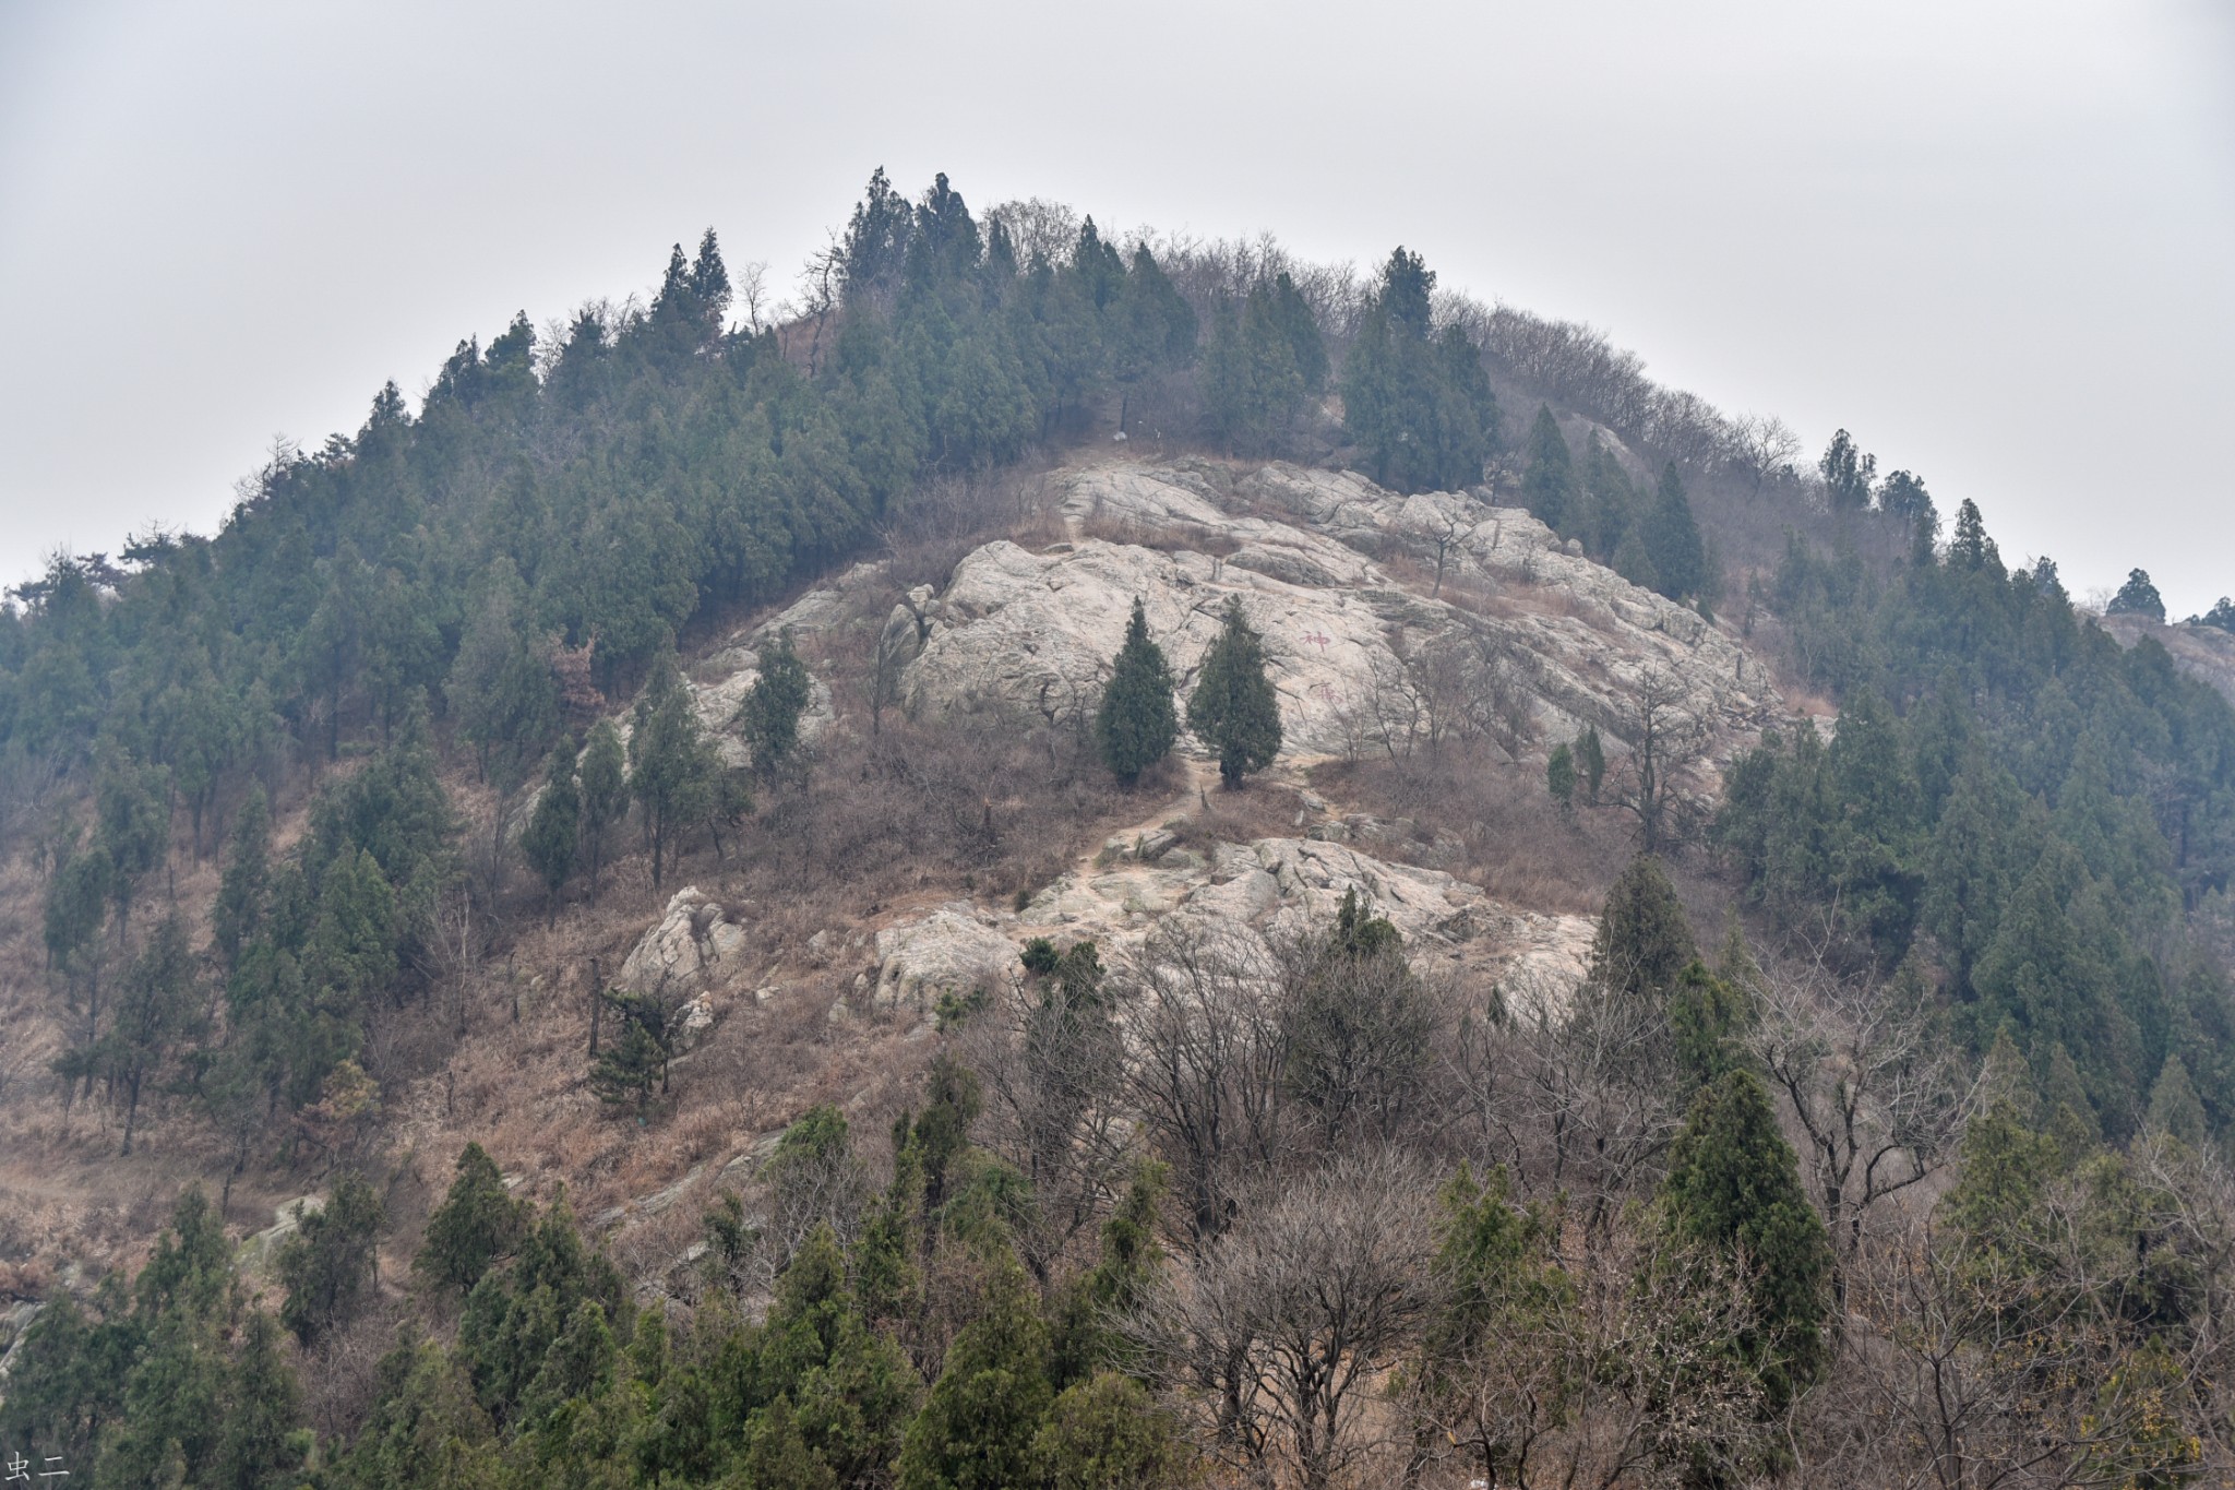
{"label": "large dark green evergreen among leafless trees in the right foreground", "polygon": [[1750,1269],[1754,1322],[1734,1345],[1781,1414],[1826,1363],[1830,1238],[1761,1079],[1728,1070],[1692,1101],[1661,1186],[1670,1233]]}

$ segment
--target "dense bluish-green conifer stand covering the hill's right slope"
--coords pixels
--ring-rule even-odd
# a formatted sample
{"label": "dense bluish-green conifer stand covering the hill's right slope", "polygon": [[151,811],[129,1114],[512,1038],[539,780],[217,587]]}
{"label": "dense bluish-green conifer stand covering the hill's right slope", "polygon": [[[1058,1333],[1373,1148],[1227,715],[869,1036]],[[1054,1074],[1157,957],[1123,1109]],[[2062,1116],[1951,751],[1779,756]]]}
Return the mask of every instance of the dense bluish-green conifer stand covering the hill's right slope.
{"label": "dense bluish-green conifer stand covering the hill's right slope", "polygon": [[[1837,451],[1833,451],[1837,453]],[[2235,1005],[2186,911],[2235,871],[2235,710],[2166,650],[2007,570],[1965,503],[1911,563],[1792,541],[1768,585],[1830,744],[1770,737],[1719,842],[1788,925],[1942,990],[1974,1050],[2007,1032],[2090,1128],[2137,1130],[2161,1074],[2235,1117]]]}

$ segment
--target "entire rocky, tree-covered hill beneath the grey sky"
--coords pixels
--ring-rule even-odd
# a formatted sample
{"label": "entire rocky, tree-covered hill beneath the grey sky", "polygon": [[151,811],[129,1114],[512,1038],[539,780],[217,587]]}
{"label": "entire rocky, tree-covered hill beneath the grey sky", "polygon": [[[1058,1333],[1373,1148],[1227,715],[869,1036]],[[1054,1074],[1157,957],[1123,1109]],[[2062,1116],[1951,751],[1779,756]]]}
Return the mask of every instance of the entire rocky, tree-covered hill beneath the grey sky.
{"label": "entire rocky, tree-covered hill beneath the grey sky", "polygon": [[2235,1465],[2210,634],[1406,250],[878,174],[822,268],[16,592],[0,1448]]}

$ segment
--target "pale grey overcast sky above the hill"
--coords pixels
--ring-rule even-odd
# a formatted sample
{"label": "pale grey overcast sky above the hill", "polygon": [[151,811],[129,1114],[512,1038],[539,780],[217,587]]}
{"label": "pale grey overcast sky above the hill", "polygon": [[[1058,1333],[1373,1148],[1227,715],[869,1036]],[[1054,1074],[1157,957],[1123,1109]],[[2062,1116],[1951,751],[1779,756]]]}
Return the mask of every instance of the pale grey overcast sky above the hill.
{"label": "pale grey overcast sky above the hill", "polygon": [[2235,590],[2235,22],[2065,4],[0,0],[0,576],[208,532],[467,333],[972,206],[1406,243],[1839,424],[2074,592]]}

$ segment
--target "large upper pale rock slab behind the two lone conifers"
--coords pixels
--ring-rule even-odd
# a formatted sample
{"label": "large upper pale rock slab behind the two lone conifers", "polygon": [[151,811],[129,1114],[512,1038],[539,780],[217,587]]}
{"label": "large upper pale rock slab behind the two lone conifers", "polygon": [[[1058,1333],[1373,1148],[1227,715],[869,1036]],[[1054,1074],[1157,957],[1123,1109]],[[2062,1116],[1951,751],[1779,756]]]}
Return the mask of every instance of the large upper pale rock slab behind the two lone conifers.
{"label": "large upper pale rock slab behind the two lone conifers", "polygon": [[[1265,637],[1285,753],[1377,748],[1435,684],[1448,650],[1462,693],[1504,695],[1493,733],[1562,737],[1596,724],[1638,735],[1661,695],[1710,733],[1746,737],[1781,701],[1734,637],[1701,614],[1567,552],[1527,512],[1464,494],[1395,496],[1354,474],[1263,467],[1238,480],[1202,462],[1104,465],[1059,478],[1077,534],[1042,552],[988,543],[945,592],[896,608],[910,710],[999,701],[1050,722],[1100,695],[1135,596],[1185,697],[1229,596]],[[1404,561],[1413,579],[1399,583]],[[1430,576],[1442,565],[1444,592]],[[1408,666],[1410,663],[1410,666]]]}

